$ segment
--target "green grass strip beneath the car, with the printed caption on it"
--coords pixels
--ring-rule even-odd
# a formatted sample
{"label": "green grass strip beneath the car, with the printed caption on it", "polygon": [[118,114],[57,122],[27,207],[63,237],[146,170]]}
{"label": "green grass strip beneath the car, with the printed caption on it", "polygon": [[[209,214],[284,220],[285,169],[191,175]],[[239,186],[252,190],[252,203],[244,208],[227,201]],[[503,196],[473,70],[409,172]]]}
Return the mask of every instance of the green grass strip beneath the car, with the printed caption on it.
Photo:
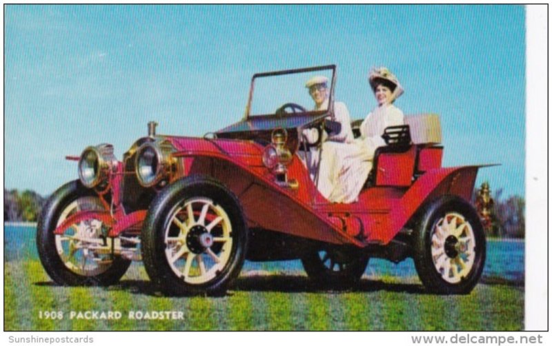
{"label": "green grass strip beneath the car, with the printed caption on it", "polygon": [[[242,276],[223,297],[166,297],[133,265],[120,285],[59,287],[39,261],[6,261],[5,329],[13,330],[520,330],[524,289],[477,285],[465,296],[426,294],[417,278],[363,279],[350,292],[317,292],[302,273]],[[61,310],[63,320],[39,319]],[[70,320],[70,311],[120,311],[120,320]],[[182,320],[130,320],[128,312],[183,312]]]}

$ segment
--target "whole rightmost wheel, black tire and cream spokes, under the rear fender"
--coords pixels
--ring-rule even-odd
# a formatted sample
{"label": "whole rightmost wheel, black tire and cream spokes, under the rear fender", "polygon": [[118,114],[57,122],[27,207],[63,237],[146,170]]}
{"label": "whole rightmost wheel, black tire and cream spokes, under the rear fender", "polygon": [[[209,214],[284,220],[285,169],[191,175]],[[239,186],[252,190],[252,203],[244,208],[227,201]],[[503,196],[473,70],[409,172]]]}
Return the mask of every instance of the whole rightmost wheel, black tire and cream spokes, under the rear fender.
{"label": "whole rightmost wheel, black tire and cream spokes, under the rear fender", "polygon": [[443,196],[429,203],[415,230],[414,263],[429,292],[468,294],[485,263],[484,230],[463,199]]}

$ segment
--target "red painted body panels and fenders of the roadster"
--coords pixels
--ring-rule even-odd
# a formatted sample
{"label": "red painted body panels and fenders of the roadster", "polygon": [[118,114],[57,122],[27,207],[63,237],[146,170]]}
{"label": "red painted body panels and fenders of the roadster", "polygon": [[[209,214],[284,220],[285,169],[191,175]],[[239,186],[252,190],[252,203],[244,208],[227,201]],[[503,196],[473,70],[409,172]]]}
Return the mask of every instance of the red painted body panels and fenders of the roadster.
{"label": "red painted body panels and fenders of the roadster", "polygon": [[[181,158],[184,176],[211,176],[239,197],[250,227],[358,247],[386,245],[420,205],[435,196],[451,194],[471,201],[477,170],[486,167],[440,167],[440,148],[419,150],[414,145],[408,152],[390,155],[384,163],[387,170],[395,170],[389,174],[389,181],[382,179],[378,181],[381,186],[362,190],[355,203],[330,203],[318,192],[297,156],[288,167],[288,176],[299,182],[299,187],[292,190],[275,183],[274,174],[262,163],[264,146],[260,144],[239,139],[163,138],[177,149],[174,156]],[[426,154],[426,150],[430,153]],[[124,163],[119,162],[119,167],[123,166]],[[424,172],[422,176],[408,185],[404,183],[420,169]],[[121,191],[120,175],[129,173],[132,172],[114,174],[112,191]],[[117,193],[114,196],[114,199],[120,198]],[[114,216],[109,212],[84,212],[68,219],[55,233],[61,234],[67,225],[94,216],[113,225],[110,235],[117,236],[144,221],[146,211]]]}

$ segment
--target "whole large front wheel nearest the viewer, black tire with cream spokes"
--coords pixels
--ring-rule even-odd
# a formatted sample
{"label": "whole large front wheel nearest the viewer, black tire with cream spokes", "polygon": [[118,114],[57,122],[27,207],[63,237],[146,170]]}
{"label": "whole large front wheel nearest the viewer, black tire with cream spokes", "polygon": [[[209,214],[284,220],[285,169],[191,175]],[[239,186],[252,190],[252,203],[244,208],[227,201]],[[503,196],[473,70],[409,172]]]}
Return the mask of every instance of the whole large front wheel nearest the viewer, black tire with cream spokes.
{"label": "whole large front wheel nearest the viewer, black tire with cream spokes", "polygon": [[142,256],[166,294],[221,294],[244,263],[247,226],[226,187],[190,176],[162,190],[142,229]]}

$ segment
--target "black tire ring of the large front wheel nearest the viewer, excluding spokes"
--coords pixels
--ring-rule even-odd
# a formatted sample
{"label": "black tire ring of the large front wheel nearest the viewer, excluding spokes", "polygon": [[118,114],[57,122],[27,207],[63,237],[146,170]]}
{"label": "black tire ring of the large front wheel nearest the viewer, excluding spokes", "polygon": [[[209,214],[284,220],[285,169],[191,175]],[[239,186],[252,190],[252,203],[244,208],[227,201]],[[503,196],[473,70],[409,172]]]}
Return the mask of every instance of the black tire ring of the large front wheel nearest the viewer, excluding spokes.
{"label": "black tire ring of the large front wheel nearest the viewer, excluding spokes", "polygon": [[[232,226],[230,258],[215,278],[201,284],[184,282],[168,264],[164,230],[173,208],[192,197],[205,197],[220,205]],[[142,258],[152,283],[168,295],[221,295],[244,265],[248,243],[247,223],[237,197],[224,185],[206,176],[187,176],[166,186],[151,204],[142,228]]]}

